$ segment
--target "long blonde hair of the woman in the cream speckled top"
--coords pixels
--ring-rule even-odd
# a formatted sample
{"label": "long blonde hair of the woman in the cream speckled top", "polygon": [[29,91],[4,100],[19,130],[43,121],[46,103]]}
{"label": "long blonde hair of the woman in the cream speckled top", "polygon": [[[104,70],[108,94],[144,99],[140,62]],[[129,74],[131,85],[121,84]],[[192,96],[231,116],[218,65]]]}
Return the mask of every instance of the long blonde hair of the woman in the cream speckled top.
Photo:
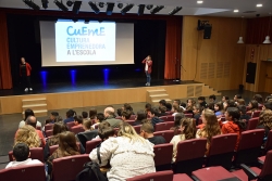
{"label": "long blonde hair of the woman in the cream speckled top", "polygon": [[129,124],[125,121],[120,124],[120,130],[118,137],[126,137],[131,139],[131,141],[133,142],[137,141],[141,141],[143,143],[146,142],[146,140],[143,137],[140,137]]}

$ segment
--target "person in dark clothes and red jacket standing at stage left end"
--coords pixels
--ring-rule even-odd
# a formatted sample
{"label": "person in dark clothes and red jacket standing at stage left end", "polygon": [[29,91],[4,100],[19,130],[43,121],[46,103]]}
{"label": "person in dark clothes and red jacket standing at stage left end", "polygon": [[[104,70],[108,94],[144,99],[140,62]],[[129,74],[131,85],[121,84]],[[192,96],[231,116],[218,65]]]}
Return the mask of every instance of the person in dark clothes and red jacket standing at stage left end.
{"label": "person in dark clothes and red jacket standing at stage left end", "polygon": [[20,76],[22,77],[23,86],[25,86],[25,91],[33,91],[30,82],[32,66],[25,62],[24,57],[21,57],[20,64]]}

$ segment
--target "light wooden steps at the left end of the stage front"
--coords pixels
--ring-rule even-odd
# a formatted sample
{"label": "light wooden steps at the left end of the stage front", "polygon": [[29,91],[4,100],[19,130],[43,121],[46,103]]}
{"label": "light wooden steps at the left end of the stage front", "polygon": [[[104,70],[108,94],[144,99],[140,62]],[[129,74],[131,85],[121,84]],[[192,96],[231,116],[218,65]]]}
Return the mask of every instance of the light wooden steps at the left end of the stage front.
{"label": "light wooden steps at the left end of the stage front", "polygon": [[47,99],[39,98],[22,100],[23,118],[25,117],[25,109],[27,108],[33,109],[36,117],[47,116]]}

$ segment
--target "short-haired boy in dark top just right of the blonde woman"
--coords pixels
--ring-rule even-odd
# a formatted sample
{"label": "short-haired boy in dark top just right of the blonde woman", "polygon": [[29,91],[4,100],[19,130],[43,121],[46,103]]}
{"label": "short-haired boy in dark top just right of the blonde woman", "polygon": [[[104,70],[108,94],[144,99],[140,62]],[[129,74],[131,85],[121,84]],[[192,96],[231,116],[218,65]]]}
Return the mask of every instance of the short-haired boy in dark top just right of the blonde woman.
{"label": "short-haired boy in dark top just right of the blonde woman", "polygon": [[154,129],[152,124],[146,122],[143,124],[140,127],[140,137],[147,139],[151,143],[156,144],[163,144],[165,143],[165,139],[161,135],[153,135]]}

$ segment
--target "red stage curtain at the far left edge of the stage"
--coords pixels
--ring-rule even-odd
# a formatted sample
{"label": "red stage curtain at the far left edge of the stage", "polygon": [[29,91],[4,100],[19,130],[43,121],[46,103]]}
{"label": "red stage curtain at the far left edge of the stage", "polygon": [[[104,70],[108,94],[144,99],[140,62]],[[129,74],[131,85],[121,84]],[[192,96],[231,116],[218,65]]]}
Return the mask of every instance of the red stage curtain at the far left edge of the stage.
{"label": "red stage curtain at the far left edge of the stage", "polygon": [[0,89],[12,88],[9,39],[5,13],[0,12]]}

